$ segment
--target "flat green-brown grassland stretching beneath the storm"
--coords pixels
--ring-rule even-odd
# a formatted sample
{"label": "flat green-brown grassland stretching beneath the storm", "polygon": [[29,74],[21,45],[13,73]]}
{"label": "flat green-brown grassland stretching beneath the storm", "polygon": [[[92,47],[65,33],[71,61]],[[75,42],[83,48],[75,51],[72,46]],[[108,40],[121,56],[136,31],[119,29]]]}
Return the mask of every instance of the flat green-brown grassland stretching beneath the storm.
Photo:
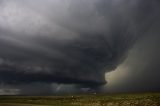
{"label": "flat green-brown grassland stretching beneath the storm", "polygon": [[0,96],[0,106],[160,106],[160,93]]}

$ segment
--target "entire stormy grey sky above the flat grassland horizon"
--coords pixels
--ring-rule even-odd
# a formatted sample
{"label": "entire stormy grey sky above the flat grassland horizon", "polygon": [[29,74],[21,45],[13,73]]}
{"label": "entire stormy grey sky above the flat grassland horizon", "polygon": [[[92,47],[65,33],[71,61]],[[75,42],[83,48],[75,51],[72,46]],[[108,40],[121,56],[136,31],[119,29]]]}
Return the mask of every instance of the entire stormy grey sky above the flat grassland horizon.
{"label": "entire stormy grey sky above the flat grassland horizon", "polygon": [[160,91],[158,0],[1,0],[0,95]]}

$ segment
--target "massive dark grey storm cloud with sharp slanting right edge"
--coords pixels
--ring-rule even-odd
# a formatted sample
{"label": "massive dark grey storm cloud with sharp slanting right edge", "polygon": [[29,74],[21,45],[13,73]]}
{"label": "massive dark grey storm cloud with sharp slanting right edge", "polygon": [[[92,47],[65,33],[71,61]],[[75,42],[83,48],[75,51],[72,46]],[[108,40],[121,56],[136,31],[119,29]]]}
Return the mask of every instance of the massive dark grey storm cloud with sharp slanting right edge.
{"label": "massive dark grey storm cloud with sharp slanting right edge", "polygon": [[103,85],[158,11],[156,0],[2,1],[0,81]]}

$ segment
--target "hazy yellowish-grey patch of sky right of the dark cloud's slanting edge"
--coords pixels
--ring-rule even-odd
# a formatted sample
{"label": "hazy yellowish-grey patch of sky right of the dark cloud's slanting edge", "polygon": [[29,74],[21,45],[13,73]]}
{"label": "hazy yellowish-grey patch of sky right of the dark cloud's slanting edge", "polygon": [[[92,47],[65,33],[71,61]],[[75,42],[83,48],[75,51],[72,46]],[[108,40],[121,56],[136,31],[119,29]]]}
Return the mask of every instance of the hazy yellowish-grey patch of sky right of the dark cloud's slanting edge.
{"label": "hazy yellowish-grey patch of sky right of the dark cloud's slanting edge", "polygon": [[[158,17],[157,17],[158,18]],[[114,73],[108,73],[110,92],[159,92],[159,30],[152,28],[129,52]]]}

